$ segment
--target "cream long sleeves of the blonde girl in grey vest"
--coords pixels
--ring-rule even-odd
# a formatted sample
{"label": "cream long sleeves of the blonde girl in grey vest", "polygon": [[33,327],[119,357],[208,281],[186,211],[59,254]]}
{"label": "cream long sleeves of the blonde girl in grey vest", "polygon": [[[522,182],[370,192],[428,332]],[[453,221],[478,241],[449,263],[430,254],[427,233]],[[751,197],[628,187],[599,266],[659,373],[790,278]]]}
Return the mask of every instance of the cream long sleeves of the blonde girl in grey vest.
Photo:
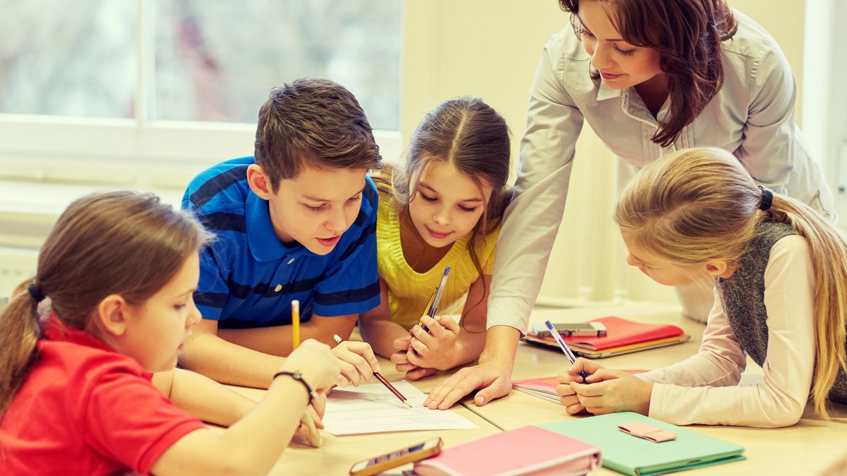
{"label": "cream long sleeves of the blonde girl in grey vest", "polygon": [[649,416],[679,425],[773,428],[797,423],[809,397],[815,364],[814,294],[805,238],[780,239],[771,248],[765,268],[764,381],[736,385],[747,361],[716,295],[700,350],[681,363],[638,374],[656,384]]}

